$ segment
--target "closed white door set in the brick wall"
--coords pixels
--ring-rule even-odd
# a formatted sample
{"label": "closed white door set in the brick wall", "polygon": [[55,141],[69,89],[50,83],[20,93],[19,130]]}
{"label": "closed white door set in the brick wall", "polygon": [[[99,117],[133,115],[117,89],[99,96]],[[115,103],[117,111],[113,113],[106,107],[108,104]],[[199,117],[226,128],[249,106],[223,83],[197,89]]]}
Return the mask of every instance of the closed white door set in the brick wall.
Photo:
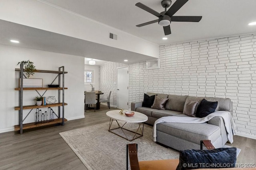
{"label": "closed white door set in the brick wall", "polygon": [[117,107],[129,109],[128,67],[117,68]]}

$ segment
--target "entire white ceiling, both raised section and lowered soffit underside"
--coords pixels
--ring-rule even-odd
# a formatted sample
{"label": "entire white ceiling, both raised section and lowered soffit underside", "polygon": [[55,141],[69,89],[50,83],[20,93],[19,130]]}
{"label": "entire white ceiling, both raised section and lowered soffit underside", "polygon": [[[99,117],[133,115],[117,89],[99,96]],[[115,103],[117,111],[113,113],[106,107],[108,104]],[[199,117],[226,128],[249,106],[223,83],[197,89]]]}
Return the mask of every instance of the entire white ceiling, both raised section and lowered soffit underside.
{"label": "entire white ceiling, both raised section and lowered soffit underside", "polygon": [[[202,20],[198,23],[172,22],[170,25],[172,34],[166,36],[168,40],[162,40],[164,31],[157,23],[144,27],[135,26],[157,19],[135,4],[142,2],[162,12],[164,8],[160,4],[161,0],[38,1],[85,16],[159,45],[256,33],[256,25],[248,25],[256,21],[256,0],[189,0],[174,16],[202,16]],[[172,4],[175,1],[173,0]],[[12,44],[10,38],[22,42]],[[0,44],[78,55],[88,57],[88,60],[102,60],[102,63],[106,61],[126,63],[124,59],[129,59],[127,63],[136,63],[152,59],[146,55],[4,20],[0,20]]]}

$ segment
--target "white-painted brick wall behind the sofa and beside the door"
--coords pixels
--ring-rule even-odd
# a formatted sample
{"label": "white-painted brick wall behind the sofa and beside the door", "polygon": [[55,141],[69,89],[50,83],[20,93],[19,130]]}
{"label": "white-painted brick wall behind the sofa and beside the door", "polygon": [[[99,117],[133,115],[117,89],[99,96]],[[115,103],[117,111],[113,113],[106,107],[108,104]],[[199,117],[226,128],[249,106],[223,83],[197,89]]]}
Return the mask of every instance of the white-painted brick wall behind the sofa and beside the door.
{"label": "white-painted brick wall behind the sofa and beside the door", "polygon": [[[143,100],[144,92],[230,98],[236,130],[256,139],[256,34],[162,45],[159,57],[160,69],[129,64],[129,102]],[[117,65],[109,63],[111,82],[103,76],[107,65],[100,67],[100,88],[116,91],[108,82],[116,81]]]}

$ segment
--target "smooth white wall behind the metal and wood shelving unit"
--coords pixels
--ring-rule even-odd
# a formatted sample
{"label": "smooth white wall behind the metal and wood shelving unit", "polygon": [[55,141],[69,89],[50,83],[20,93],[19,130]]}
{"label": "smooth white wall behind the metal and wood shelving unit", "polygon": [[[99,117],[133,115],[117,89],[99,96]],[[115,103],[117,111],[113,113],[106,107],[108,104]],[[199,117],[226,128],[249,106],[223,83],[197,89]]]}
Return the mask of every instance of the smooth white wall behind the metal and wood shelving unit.
{"label": "smooth white wall behind the metal and wood shelving unit", "polygon": [[[50,53],[46,51],[36,51],[0,45],[0,133],[13,131],[14,125],[19,124],[19,112],[14,111],[14,107],[19,105],[19,91],[14,90],[18,87],[19,73],[15,68],[19,61],[30,60],[38,70],[58,70],[58,67],[65,66],[65,118],[68,120],[84,117],[84,57]],[[47,87],[56,74],[36,73],[30,78],[43,78],[43,86]],[[58,83],[58,82],[56,82]],[[55,83],[54,83],[55,84]],[[40,90],[42,92],[42,90]],[[56,96],[57,90],[48,90],[45,96]],[[33,105],[33,98],[38,96],[36,91],[24,91],[24,105]],[[57,107],[53,107],[57,111]],[[45,108],[46,109],[46,108]],[[24,110],[24,117],[29,110]],[[34,121],[33,110],[24,123]]]}

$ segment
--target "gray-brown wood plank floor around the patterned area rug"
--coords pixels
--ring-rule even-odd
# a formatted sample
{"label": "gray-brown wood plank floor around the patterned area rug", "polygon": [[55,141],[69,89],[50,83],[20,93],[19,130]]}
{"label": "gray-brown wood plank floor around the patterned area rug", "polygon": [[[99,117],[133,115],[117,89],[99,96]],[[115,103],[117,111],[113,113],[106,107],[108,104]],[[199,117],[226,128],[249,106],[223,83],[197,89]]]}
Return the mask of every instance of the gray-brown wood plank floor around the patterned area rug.
{"label": "gray-brown wood plank floor around the patterned area rug", "polygon": [[[111,108],[116,109],[116,108]],[[67,121],[64,126],[50,125],[37,129],[0,133],[0,170],[87,170],[58,133],[108,122],[107,106],[85,112],[84,119]],[[234,136],[228,144],[242,149],[238,163],[256,163],[256,140]]]}

